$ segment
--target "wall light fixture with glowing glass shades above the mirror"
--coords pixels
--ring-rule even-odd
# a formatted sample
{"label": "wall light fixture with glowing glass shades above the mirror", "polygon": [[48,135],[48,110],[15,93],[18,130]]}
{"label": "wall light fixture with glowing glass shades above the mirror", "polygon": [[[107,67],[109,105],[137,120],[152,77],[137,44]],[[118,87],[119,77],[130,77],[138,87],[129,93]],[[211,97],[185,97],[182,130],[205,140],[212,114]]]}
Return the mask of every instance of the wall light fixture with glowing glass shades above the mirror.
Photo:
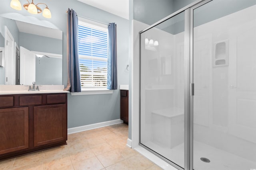
{"label": "wall light fixture with glowing glass shades above the mirror", "polygon": [[[28,1],[28,0],[27,0]],[[28,4],[24,4],[23,7],[31,14],[39,14],[42,12],[41,8],[39,8],[39,4],[44,4],[44,3],[38,3],[38,4],[34,4],[34,0],[32,0],[32,2],[30,3],[28,1]],[[46,5],[46,4],[44,4]],[[21,10],[21,4],[19,0],[12,0],[10,6],[15,9],[15,10]],[[46,8],[44,8],[43,11],[43,16],[45,18],[52,18],[52,14],[48,8],[48,6],[46,5]]]}

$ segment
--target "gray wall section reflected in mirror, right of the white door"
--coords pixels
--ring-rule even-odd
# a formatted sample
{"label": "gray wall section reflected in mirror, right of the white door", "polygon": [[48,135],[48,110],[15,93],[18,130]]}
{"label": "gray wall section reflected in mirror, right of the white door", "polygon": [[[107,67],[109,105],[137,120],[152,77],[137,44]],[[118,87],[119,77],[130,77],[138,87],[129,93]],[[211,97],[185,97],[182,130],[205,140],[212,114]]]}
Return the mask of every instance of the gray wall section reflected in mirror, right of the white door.
{"label": "gray wall section reflected in mirror, right of the white door", "polygon": [[62,84],[62,58],[36,57],[36,84]]}

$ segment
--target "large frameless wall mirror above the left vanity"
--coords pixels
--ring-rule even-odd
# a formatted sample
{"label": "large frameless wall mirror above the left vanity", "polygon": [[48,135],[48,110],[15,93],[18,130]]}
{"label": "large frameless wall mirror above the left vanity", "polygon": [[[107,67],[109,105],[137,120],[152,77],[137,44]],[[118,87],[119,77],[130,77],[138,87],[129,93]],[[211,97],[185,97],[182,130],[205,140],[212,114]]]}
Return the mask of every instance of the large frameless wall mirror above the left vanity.
{"label": "large frameless wall mirror above the left vanity", "polygon": [[0,17],[0,51],[0,84],[62,84],[62,31]]}

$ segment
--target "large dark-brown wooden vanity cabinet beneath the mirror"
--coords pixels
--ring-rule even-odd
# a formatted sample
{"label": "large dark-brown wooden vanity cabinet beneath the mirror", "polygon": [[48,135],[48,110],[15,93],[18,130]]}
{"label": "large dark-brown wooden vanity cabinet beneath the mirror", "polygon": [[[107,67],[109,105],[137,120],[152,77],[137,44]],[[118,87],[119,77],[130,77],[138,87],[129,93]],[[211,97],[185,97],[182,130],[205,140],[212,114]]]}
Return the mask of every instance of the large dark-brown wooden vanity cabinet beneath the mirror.
{"label": "large dark-brown wooden vanity cabinet beneath the mirror", "polygon": [[66,93],[0,95],[0,160],[66,140]]}

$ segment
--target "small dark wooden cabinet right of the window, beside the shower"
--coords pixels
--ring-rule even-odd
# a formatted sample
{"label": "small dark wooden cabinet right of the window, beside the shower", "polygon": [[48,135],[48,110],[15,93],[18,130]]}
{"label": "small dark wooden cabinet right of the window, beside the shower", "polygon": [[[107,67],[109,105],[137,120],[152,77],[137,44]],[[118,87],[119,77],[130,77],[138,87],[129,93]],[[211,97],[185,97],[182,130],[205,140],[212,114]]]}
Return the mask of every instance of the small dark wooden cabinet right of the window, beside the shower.
{"label": "small dark wooden cabinet right of the window, beside the shower", "polygon": [[128,124],[129,117],[128,117],[128,90],[120,90],[120,119],[124,121],[124,123]]}

